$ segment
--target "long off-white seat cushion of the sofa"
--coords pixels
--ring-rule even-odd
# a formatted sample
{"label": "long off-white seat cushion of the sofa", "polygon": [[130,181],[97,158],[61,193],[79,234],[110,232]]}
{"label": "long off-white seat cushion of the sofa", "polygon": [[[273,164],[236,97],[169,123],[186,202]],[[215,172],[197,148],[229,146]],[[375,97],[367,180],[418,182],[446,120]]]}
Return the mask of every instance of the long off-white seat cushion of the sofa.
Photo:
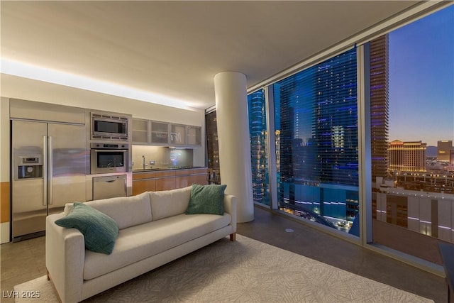
{"label": "long off-white seat cushion of the sofa", "polygon": [[[161,253],[182,243],[192,241],[228,226],[231,215],[179,214],[165,219],[121,229],[109,258],[86,251],[84,280],[99,277],[107,272]],[[104,257],[104,258],[103,258]]]}

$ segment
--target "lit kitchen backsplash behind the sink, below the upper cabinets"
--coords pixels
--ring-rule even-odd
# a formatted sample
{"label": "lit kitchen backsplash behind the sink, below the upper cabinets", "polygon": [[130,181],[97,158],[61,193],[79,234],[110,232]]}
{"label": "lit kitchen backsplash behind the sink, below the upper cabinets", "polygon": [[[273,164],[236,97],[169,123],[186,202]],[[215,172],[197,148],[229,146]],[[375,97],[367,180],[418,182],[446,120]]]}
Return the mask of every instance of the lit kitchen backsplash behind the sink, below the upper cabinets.
{"label": "lit kitchen backsplash behind the sink, below the upper cabinets", "polygon": [[[194,150],[192,149],[172,149],[162,146],[133,145],[133,169],[143,168],[143,158],[145,156],[146,168],[172,167],[172,166],[192,166],[194,161]],[[155,161],[150,165],[150,161]]]}

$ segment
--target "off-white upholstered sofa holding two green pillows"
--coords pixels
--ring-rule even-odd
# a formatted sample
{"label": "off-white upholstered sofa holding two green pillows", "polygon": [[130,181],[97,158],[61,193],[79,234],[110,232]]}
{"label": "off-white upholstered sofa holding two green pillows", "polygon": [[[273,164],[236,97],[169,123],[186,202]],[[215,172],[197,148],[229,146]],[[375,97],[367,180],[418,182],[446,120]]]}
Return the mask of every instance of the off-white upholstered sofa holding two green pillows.
{"label": "off-white upholstered sofa holding two green pillows", "polygon": [[118,224],[110,255],[86,250],[79,230],[55,224],[72,204],[48,216],[45,262],[60,301],[80,302],[228,235],[235,241],[236,197],[224,195],[223,216],[184,214],[191,189],[87,202]]}

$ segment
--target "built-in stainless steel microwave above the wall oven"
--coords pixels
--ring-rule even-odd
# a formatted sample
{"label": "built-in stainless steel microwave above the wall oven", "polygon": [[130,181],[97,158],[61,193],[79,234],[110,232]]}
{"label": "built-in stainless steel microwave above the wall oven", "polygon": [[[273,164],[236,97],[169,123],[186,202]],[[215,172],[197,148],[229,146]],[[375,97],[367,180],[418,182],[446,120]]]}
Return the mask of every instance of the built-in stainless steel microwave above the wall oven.
{"label": "built-in stainless steel microwave above the wall oven", "polygon": [[92,140],[128,140],[128,117],[92,113]]}

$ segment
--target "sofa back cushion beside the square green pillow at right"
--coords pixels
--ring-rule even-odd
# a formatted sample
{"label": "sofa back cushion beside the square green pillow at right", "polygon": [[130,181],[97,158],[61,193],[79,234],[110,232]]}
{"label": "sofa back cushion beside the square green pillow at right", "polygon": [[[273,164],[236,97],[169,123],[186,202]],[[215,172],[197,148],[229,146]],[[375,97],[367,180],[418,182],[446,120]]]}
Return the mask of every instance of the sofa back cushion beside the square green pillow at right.
{"label": "sofa back cushion beside the square green pillow at right", "polygon": [[192,187],[188,186],[160,192],[148,192],[150,194],[153,221],[167,216],[184,214],[191,198],[191,189]]}

